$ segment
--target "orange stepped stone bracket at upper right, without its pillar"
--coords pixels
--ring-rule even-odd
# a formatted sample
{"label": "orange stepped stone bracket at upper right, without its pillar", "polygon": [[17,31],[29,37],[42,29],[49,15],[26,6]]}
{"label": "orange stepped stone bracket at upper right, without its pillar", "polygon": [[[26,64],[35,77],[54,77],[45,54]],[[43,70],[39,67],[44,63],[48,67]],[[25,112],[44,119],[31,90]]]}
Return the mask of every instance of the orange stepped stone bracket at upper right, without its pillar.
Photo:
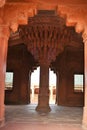
{"label": "orange stepped stone bracket at upper right, without its pillar", "polygon": [[66,19],[67,26],[75,26],[76,32],[84,30],[87,22],[86,5],[59,5],[58,14]]}

